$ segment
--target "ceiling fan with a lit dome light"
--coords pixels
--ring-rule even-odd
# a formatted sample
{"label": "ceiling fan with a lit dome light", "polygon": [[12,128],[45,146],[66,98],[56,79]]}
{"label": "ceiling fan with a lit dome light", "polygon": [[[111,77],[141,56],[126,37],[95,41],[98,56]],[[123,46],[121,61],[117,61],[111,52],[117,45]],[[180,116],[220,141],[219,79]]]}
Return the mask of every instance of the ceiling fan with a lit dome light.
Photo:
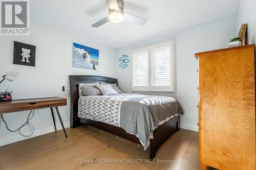
{"label": "ceiling fan with a lit dome light", "polygon": [[147,22],[147,20],[144,18],[124,13],[122,0],[106,0],[106,2],[109,6],[109,16],[106,16],[105,18],[94,23],[92,27],[98,28],[109,21],[119,23],[125,20],[128,22],[136,23],[140,26],[144,26],[145,23]]}

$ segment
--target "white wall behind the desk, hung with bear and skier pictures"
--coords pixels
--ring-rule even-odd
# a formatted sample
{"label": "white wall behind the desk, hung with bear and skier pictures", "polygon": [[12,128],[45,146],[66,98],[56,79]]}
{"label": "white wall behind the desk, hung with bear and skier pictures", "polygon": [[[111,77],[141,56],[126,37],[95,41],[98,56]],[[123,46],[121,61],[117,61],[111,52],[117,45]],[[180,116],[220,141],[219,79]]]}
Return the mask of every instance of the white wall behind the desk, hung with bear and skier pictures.
{"label": "white wall behind the desk, hung with bear and skier pictures", "polygon": [[[13,41],[36,45],[36,66],[15,65],[13,63]],[[89,70],[72,67],[72,43],[80,43],[99,49],[99,70]],[[0,91],[13,91],[13,99],[45,98],[59,96],[68,98],[68,106],[59,107],[63,123],[70,126],[70,90],[69,75],[99,75],[115,77],[116,50],[87,39],[85,35],[78,36],[69,32],[45,25],[32,20],[30,36],[1,36],[0,37],[0,76],[17,74],[14,82],[4,81]],[[66,87],[63,92],[62,86]],[[24,122],[29,111],[8,113],[4,117],[11,129],[16,129]],[[58,119],[57,117],[55,117]],[[50,109],[35,110],[31,120],[35,134],[41,135],[54,131]],[[57,127],[60,124],[57,120]],[[28,128],[23,130],[29,132]],[[16,133],[7,131],[0,118],[0,145],[25,139]]]}

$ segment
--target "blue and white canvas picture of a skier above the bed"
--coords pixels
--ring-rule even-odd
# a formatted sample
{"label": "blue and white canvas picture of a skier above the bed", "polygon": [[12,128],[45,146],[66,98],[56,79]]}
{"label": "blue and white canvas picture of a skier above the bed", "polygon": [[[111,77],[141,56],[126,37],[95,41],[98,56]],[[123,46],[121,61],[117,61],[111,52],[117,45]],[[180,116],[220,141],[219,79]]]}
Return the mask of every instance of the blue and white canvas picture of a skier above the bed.
{"label": "blue and white canvas picture of a skier above the bed", "polygon": [[73,67],[98,70],[99,50],[73,43]]}

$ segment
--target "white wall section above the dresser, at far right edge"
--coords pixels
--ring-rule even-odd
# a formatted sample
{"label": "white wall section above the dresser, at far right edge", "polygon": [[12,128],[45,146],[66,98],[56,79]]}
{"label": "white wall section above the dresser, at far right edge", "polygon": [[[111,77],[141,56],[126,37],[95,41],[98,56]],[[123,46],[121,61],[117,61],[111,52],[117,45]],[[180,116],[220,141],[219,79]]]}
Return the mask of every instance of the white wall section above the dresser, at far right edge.
{"label": "white wall section above the dresser, at far right edge", "polygon": [[237,33],[241,25],[248,24],[248,44],[256,42],[256,1],[240,0],[237,12]]}

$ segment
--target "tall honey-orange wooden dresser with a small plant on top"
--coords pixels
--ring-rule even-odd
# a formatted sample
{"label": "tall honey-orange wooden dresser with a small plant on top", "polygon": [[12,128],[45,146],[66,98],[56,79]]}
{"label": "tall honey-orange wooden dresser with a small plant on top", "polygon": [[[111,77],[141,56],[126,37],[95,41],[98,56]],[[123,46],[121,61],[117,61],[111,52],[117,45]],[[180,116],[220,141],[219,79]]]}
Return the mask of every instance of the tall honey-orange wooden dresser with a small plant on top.
{"label": "tall honey-orange wooden dresser with a small plant on top", "polygon": [[255,170],[254,44],[195,54],[199,157],[221,170]]}

